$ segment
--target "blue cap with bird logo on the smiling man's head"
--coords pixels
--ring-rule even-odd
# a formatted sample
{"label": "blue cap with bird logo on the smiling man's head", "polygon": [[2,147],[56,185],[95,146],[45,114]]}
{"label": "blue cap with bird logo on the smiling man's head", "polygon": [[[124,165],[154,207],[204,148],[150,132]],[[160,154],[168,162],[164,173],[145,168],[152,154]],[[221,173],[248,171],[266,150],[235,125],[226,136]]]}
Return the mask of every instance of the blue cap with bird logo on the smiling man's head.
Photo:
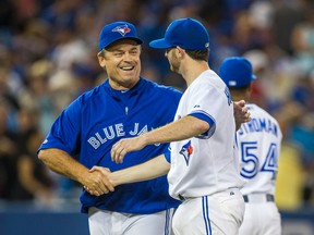
{"label": "blue cap with bird logo on the smiling man's head", "polygon": [[129,22],[113,22],[105,25],[99,34],[99,50],[101,51],[117,40],[126,38],[135,40],[138,45],[143,44],[137,36],[135,26]]}

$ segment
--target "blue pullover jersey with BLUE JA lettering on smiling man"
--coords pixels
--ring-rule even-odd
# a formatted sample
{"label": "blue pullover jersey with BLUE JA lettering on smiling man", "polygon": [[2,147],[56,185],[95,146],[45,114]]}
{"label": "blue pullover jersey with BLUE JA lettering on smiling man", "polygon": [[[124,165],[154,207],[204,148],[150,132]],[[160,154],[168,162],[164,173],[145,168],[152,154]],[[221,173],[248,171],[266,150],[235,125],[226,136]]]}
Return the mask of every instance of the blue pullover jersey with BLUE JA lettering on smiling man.
{"label": "blue pullover jersey with BLUE JA lettering on smiling man", "polygon": [[[145,162],[167,151],[168,145],[149,145],[130,152],[123,163],[111,161],[110,150],[121,138],[133,137],[173,121],[181,92],[140,78],[132,89],[122,92],[108,79],[74,100],[56,120],[40,149],[58,148],[90,169],[109,168],[112,172]],[[82,212],[89,207],[125,213],[154,213],[179,206],[169,196],[167,176],[120,185],[99,197],[83,190]]]}

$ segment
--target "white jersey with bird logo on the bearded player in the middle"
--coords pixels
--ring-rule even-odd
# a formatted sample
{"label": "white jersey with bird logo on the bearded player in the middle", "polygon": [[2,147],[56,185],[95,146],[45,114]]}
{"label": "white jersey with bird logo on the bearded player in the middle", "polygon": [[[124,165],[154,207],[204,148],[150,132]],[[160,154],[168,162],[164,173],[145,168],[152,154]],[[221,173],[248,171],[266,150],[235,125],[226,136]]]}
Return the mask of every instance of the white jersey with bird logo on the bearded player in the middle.
{"label": "white jersey with bird logo on the bearded player in the middle", "polygon": [[183,94],[174,120],[186,115],[205,115],[210,128],[197,137],[171,143],[170,195],[202,197],[242,186],[233,149],[233,104],[229,89],[214,71],[203,72]]}

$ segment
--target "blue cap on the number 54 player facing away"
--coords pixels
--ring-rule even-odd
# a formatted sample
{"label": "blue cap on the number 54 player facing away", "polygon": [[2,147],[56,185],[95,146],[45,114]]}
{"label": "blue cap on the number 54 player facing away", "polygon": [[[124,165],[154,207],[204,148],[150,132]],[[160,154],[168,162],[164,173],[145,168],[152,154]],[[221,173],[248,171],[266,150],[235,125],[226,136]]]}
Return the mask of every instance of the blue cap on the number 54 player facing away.
{"label": "blue cap on the number 54 player facing away", "polygon": [[244,87],[256,78],[250,61],[241,57],[225,59],[219,67],[219,76],[228,87]]}

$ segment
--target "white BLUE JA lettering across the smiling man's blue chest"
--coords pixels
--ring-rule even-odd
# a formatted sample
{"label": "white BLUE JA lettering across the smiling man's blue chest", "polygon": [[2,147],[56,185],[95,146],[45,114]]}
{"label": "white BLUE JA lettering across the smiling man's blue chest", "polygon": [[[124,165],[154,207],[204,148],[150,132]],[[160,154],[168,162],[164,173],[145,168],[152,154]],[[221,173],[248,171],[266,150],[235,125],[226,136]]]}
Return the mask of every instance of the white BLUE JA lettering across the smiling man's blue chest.
{"label": "white BLUE JA lettering across the smiling man's blue chest", "polygon": [[[150,128],[149,131],[152,129],[153,128]],[[147,125],[144,125],[144,127],[140,129],[140,123],[134,123],[134,128],[129,132],[129,135],[137,136],[143,135],[144,133],[147,132],[148,132]],[[93,148],[98,149],[106,141],[123,136],[125,136],[123,123],[118,123],[114,125],[107,126],[102,128],[100,132],[95,133],[92,137],[87,139],[87,141],[89,143],[90,146],[93,146]]]}

